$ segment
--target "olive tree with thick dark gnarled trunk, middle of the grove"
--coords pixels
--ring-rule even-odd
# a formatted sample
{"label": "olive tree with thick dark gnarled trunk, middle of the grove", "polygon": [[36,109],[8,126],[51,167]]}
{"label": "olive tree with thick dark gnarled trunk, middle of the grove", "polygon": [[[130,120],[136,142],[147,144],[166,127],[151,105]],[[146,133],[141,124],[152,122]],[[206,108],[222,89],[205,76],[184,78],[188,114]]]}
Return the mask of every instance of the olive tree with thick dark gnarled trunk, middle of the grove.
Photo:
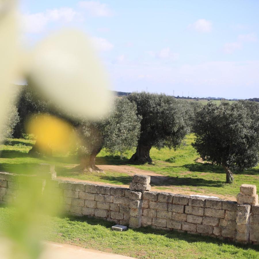
{"label": "olive tree with thick dark gnarled trunk, middle of the grove", "polygon": [[190,105],[173,96],[135,92],[127,96],[137,105],[137,114],[142,117],[140,138],[136,152],[130,161],[133,163],[152,163],[150,149],[180,145],[190,130]]}

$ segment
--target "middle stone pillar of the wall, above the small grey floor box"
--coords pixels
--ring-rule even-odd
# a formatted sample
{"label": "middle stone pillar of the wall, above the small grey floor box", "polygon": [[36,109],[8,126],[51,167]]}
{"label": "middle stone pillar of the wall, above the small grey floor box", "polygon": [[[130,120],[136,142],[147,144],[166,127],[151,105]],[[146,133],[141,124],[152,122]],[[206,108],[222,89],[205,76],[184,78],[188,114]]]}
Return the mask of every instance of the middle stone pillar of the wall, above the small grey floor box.
{"label": "middle stone pillar of the wall, above the small grey floor box", "polygon": [[142,219],[142,196],[144,191],[150,191],[150,176],[135,174],[129,184],[129,227],[141,227]]}

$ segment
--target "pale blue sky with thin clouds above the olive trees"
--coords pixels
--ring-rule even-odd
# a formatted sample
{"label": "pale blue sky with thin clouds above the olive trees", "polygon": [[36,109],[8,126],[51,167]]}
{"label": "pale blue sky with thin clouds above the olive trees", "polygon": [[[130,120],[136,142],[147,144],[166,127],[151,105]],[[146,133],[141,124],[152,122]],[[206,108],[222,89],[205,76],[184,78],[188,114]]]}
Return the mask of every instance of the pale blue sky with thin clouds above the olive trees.
{"label": "pale blue sky with thin clouds above the olive trees", "polygon": [[259,1],[21,0],[28,45],[84,31],[116,91],[259,97]]}

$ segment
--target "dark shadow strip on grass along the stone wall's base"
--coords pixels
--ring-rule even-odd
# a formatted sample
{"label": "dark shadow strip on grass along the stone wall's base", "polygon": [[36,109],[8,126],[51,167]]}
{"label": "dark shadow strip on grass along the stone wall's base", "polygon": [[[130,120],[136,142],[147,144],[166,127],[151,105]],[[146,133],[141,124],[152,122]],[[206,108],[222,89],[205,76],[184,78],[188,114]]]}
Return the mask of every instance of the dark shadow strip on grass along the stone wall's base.
{"label": "dark shadow strip on grass along the stone wall's base", "polygon": [[[100,226],[104,226],[109,229],[113,225],[116,224],[114,222],[108,222],[106,220],[97,219],[97,218],[88,217],[88,216],[77,217],[77,216],[63,215],[62,217],[69,218],[70,221],[86,222],[87,224],[92,225],[92,226],[100,225]],[[180,239],[180,240],[186,241],[188,243],[205,242],[205,243],[217,244],[220,246],[222,246],[223,244],[228,244],[228,245],[233,245],[235,247],[243,248],[245,250],[253,249],[255,251],[259,251],[259,245],[231,243],[231,242],[227,242],[224,240],[220,240],[220,239],[216,239],[216,238],[208,237],[208,236],[180,233],[176,230],[173,230],[173,231],[156,230],[154,228],[151,228],[151,226],[136,228],[136,229],[134,229],[134,232],[143,233],[143,234],[163,235],[164,237],[167,237],[170,239],[176,239],[176,241]]]}

